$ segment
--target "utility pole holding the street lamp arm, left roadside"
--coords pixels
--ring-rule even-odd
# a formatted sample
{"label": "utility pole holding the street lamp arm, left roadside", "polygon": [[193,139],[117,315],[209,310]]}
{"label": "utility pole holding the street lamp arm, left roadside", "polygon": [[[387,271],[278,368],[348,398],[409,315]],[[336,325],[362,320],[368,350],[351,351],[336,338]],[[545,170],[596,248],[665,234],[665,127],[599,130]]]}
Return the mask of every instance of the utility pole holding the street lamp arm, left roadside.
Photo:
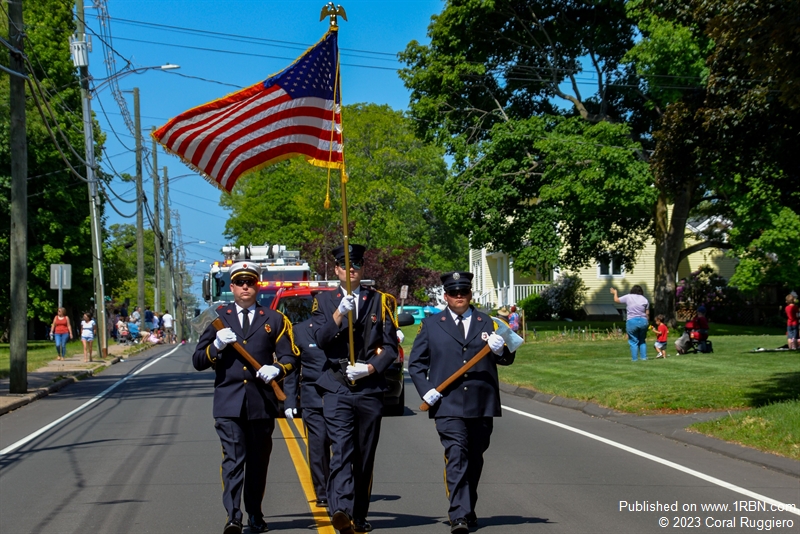
{"label": "utility pole holding the street lamp arm, left roadside", "polygon": [[97,195],[97,179],[94,163],[94,129],[92,124],[92,104],[89,93],[89,46],[86,41],[83,0],[76,0],[76,35],[72,40],[72,61],[80,72],[81,102],[83,107],[83,138],[86,156],[86,180],[89,182],[89,215],[92,230],[92,267],[94,272],[94,304],[97,318],[97,350],[100,357],[108,356],[108,328],[106,328],[106,296],[103,280],[103,246],[100,228],[100,197]]}

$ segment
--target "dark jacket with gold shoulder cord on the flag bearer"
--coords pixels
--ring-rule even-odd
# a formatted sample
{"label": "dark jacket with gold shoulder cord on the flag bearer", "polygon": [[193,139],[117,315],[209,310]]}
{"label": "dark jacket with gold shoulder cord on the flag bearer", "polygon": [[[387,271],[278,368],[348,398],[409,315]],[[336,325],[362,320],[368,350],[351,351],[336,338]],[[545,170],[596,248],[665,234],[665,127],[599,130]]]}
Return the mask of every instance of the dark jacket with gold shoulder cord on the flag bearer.
{"label": "dark jacket with gold shoulder cord on the flag bearer", "polygon": [[[314,339],[320,349],[325,351],[330,369],[317,380],[317,386],[325,391],[357,394],[381,393],[386,389],[383,373],[397,359],[397,327],[392,316],[395,312],[394,298],[362,286],[358,295],[358,319],[353,310],[353,343],[356,360],[371,363],[375,372],[356,380],[354,386],[347,386],[347,377],[340,360],[350,359],[348,346],[347,315],[342,325],[336,326],[333,312],[339,307],[346,291],[339,286],[336,291],[325,291],[317,294],[314,301]],[[345,368],[347,365],[345,364]],[[339,373],[339,376],[336,374]],[[343,377],[343,379],[342,379]]]}

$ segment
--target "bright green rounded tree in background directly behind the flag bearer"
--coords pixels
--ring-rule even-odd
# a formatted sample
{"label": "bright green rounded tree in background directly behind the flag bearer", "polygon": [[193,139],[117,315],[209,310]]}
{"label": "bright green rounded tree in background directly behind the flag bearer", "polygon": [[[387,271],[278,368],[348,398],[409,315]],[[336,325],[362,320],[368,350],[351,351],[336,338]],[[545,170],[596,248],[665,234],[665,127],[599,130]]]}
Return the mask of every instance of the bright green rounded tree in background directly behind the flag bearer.
{"label": "bright green rounded tree in background directly behind the flag bearer", "polygon": [[[348,219],[352,242],[368,248],[411,249],[420,265],[464,267],[466,238],[443,222],[443,153],[414,135],[401,112],[357,104],[343,111]],[[324,209],[330,186],[330,208]],[[341,241],[339,173],[294,159],[243,177],[220,203],[231,211],[226,235],[235,242],[316,243],[334,229]],[[332,248],[334,243],[323,243]]]}

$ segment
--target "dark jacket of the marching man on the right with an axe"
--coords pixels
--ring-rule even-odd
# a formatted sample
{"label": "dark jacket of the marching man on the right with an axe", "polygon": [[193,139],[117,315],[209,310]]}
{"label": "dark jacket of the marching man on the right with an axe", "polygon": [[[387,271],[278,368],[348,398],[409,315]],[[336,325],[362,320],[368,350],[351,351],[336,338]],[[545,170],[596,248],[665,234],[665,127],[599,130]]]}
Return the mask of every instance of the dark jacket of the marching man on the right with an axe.
{"label": "dark jacket of the marching man on the right with an axe", "polygon": [[[449,309],[423,319],[408,359],[408,374],[420,396],[450,378],[486,346],[494,332],[492,318],[472,308],[469,332],[464,339]],[[429,417],[500,417],[497,366],[510,365],[515,353],[504,347],[502,356],[489,352],[475,367],[442,392],[442,399],[428,410]]]}

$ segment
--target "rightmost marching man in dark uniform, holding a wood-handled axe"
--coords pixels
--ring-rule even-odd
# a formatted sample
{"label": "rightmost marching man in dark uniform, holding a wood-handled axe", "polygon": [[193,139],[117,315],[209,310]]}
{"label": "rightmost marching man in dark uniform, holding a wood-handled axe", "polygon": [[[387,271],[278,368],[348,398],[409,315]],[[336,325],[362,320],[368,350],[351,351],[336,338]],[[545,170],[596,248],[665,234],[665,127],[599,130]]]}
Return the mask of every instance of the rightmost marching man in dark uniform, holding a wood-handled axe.
{"label": "rightmost marching man in dark uniform, holding a wood-handled axe", "polygon": [[[494,417],[500,417],[498,365],[510,365],[515,354],[497,335],[494,321],[470,305],[472,273],[441,276],[447,309],[423,319],[408,373],[422,399],[430,405],[445,454],[445,490],[450,499],[450,532],[469,532],[478,526],[475,504],[489,448]],[[490,352],[443,393],[436,386],[489,345]]]}

